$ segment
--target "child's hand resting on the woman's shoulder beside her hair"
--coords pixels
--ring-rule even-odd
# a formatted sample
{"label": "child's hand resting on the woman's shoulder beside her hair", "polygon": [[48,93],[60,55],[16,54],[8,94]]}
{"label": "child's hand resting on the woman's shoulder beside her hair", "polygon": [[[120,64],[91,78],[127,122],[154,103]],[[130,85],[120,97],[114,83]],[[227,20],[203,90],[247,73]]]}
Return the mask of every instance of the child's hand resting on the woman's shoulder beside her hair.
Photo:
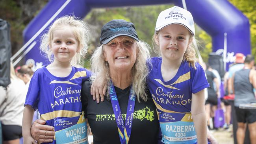
{"label": "child's hand resting on the woman's shoulder beside her hair", "polygon": [[106,81],[100,81],[95,79],[91,85],[91,95],[93,95],[93,100],[97,103],[104,101],[104,96],[106,96],[107,83]]}

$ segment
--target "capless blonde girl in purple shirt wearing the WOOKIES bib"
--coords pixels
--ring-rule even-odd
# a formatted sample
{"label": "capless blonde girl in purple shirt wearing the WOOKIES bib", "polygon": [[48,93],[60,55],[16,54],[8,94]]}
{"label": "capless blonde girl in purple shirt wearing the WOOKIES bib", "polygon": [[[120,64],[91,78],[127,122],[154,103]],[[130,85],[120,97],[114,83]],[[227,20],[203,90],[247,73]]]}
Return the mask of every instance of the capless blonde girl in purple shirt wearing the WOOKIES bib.
{"label": "capless blonde girl in purple shirt wearing the WOOKIES bib", "polygon": [[87,141],[80,93],[91,72],[75,65],[87,52],[88,41],[85,22],[73,16],[58,18],[43,35],[41,51],[52,63],[36,70],[31,78],[22,120],[24,144],[36,144],[30,132],[36,109],[46,125],[54,126],[50,143]]}

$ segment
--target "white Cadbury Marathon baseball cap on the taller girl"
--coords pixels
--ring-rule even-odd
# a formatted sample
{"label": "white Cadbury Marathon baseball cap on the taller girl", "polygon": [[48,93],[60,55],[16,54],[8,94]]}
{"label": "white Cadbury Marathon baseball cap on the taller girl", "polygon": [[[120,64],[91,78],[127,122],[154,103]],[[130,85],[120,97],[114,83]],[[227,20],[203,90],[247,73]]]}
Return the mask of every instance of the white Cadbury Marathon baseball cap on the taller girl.
{"label": "white Cadbury Marathon baseball cap on the taller girl", "polygon": [[195,35],[195,24],[193,17],[189,11],[178,6],[171,7],[162,11],[156,20],[156,29],[160,31],[165,26],[170,24],[180,24],[185,26],[192,35]]}

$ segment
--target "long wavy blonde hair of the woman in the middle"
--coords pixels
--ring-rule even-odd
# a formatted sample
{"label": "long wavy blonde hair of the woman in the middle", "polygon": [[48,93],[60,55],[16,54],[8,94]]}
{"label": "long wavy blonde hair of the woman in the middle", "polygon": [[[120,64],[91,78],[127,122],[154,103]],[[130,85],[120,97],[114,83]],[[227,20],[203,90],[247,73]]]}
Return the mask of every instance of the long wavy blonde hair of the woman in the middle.
{"label": "long wavy blonde hair of the woman in the middle", "polygon": [[[134,90],[137,100],[140,102],[147,101],[147,86],[146,86],[146,78],[148,76],[148,64],[150,62],[147,59],[150,56],[149,49],[150,46],[142,41],[137,42],[137,56],[134,66],[132,67],[132,89]],[[108,87],[110,86],[110,72],[108,63],[104,60],[104,45],[102,44],[98,48],[96,48],[95,52],[91,57],[91,69],[94,73],[91,76],[91,81],[94,79],[100,79],[101,81],[107,81]],[[109,100],[109,94],[106,94],[107,99]]]}

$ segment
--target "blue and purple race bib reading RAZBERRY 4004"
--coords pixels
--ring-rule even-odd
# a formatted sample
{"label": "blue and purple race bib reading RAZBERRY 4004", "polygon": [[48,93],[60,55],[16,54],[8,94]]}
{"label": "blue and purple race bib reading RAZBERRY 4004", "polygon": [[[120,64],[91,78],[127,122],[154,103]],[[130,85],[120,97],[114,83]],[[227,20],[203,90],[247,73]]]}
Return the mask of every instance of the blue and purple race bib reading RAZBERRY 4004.
{"label": "blue and purple race bib reading RAZBERRY 4004", "polygon": [[195,144],[197,133],[191,114],[164,113],[159,115],[164,144]]}

